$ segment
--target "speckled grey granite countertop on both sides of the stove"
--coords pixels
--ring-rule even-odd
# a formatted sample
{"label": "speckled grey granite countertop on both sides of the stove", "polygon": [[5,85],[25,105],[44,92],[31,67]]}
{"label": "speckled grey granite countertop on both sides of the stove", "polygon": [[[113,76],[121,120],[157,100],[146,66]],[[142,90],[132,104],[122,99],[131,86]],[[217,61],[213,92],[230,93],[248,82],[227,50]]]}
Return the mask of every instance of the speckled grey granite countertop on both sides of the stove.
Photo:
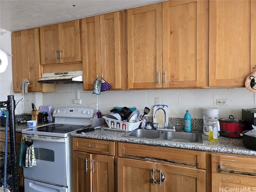
{"label": "speckled grey granite countertop on both sides of the stove", "polygon": [[[50,122],[48,124],[53,124],[53,122]],[[44,126],[44,125],[47,125],[47,124],[38,124],[38,127]],[[27,124],[16,124],[16,132],[22,132],[23,129],[28,129]],[[4,131],[5,127],[1,126],[0,130]],[[70,133],[70,136],[109,140],[109,141],[129,142],[129,143],[136,143],[136,144],[146,144],[146,145],[153,145],[153,146],[182,148],[182,149],[190,149],[190,150],[212,151],[212,152],[223,152],[223,153],[231,153],[231,154],[243,154],[243,155],[256,156],[256,150],[250,150],[246,148],[241,138],[228,138],[224,136],[219,136],[218,142],[209,142],[208,136],[202,134],[204,144],[194,144],[194,143],[173,142],[173,141],[165,141],[165,140],[146,139],[146,138],[131,138],[131,137],[124,136],[126,133],[127,132],[95,129],[93,132],[87,132],[87,133],[81,133],[81,134],[77,134],[76,131],[74,131]]]}

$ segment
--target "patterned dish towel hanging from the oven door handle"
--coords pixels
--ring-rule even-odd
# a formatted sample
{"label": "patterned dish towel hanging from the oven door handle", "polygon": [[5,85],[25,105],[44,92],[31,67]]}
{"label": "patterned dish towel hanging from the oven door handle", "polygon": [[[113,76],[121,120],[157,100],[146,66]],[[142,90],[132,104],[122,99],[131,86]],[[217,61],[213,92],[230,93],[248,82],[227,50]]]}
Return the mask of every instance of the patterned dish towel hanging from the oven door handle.
{"label": "patterned dish towel hanging from the oven door handle", "polygon": [[33,142],[31,138],[26,136],[22,136],[21,138],[18,166],[22,168],[36,166]]}

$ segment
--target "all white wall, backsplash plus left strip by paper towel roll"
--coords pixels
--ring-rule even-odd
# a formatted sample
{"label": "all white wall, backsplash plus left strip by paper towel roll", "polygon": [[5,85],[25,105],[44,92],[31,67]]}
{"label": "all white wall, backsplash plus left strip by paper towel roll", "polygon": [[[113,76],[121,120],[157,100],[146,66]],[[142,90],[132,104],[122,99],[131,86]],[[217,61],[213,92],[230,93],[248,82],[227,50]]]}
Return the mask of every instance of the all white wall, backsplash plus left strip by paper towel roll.
{"label": "all white wall, backsplash plus left strip by paper towel roll", "polygon": [[[1,49],[11,53],[11,33],[0,36]],[[82,104],[74,104],[77,93]],[[96,108],[97,95],[92,91],[83,91],[82,84],[58,84],[56,93],[28,93],[21,96],[13,92],[12,85],[12,60],[5,72],[0,74],[0,100],[7,100],[7,95],[14,95],[16,102],[24,98],[16,106],[16,114],[31,112],[31,103],[38,106],[52,105],[52,108],[60,106],[86,106]],[[188,90],[129,90],[106,91],[98,96],[99,109],[106,114],[114,106],[136,106],[138,109],[150,108],[148,116],[153,116],[154,98],[159,97],[161,104],[168,105],[169,117],[183,118],[186,110],[190,111],[192,118],[202,118],[202,107],[213,106],[220,109],[219,118],[227,118],[234,115],[242,118],[242,108],[254,108],[256,96],[246,88],[222,88],[222,89],[188,89]],[[228,99],[228,105],[216,106],[216,99]]]}

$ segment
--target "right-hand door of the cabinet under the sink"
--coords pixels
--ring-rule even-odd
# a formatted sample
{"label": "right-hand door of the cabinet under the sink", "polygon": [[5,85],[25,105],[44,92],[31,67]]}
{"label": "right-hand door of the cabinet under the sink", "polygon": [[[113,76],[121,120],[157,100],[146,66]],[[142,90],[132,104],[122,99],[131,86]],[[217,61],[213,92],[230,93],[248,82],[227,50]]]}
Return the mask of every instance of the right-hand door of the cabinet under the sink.
{"label": "right-hand door of the cabinet under the sink", "polygon": [[165,180],[158,186],[158,192],[205,192],[206,172],[194,168],[158,164],[165,174]]}

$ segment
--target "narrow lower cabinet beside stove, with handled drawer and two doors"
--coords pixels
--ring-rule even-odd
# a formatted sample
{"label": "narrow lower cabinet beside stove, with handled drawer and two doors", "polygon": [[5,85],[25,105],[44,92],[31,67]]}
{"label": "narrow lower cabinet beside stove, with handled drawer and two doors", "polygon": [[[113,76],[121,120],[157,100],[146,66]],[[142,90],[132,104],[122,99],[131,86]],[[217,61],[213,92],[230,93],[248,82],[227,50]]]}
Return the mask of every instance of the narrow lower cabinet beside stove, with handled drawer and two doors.
{"label": "narrow lower cabinet beside stove, with handled drawer and two doors", "polygon": [[111,141],[73,138],[73,192],[115,191],[113,151]]}

